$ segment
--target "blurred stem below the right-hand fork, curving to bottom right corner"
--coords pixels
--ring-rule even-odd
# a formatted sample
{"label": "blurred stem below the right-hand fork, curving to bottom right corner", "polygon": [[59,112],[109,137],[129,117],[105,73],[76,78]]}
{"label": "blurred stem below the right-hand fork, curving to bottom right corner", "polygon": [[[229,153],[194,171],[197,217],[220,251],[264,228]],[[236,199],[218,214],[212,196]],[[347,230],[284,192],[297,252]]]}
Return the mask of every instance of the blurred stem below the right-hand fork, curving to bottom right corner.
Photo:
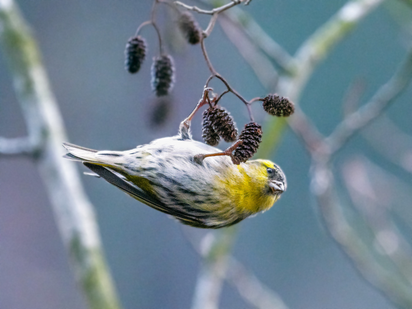
{"label": "blurred stem below the right-hand fork, curving to bottom right corner", "polygon": [[399,280],[399,276],[382,265],[382,257],[374,252],[368,241],[369,234],[356,229],[356,222],[346,217],[349,209],[343,209],[335,189],[335,180],[325,162],[313,162],[311,166],[311,189],[332,237],[355,262],[363,276],[383,290],[393,302],[403,308],[412,306],[411,283]]}

